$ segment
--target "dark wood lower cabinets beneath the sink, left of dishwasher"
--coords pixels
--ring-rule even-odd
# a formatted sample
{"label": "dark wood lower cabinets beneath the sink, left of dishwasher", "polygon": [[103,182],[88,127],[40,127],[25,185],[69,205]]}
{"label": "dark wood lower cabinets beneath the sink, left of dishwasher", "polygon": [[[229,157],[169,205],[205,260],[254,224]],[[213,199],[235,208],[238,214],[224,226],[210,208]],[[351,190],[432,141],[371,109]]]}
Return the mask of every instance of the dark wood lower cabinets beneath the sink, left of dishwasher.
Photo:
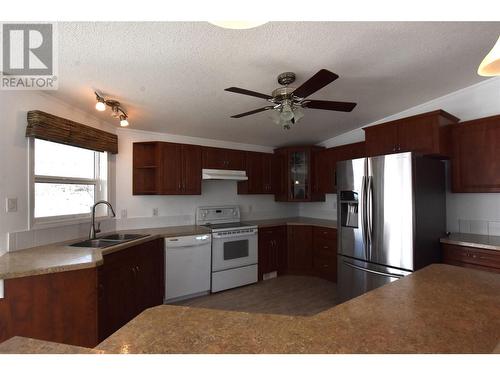
{"label": "dark wood lower cabinets beneath the sink, left of dishwasher", "polygon": [[97,268],[8,279],[0,342],[25,336],[94,347],[164,297],[163,239],[105,255]]}

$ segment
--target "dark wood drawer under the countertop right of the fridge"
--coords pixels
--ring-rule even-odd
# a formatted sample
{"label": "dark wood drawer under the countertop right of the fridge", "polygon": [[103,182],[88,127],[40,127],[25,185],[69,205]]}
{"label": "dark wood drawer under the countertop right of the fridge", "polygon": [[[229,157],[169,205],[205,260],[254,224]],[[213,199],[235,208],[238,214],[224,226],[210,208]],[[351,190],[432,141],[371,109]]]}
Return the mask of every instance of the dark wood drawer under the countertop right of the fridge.
{"label": "dark wood drawer under the countertop right of the fridge", "polygon": [[443,244],[443,260],[500,269],[500,251]]}

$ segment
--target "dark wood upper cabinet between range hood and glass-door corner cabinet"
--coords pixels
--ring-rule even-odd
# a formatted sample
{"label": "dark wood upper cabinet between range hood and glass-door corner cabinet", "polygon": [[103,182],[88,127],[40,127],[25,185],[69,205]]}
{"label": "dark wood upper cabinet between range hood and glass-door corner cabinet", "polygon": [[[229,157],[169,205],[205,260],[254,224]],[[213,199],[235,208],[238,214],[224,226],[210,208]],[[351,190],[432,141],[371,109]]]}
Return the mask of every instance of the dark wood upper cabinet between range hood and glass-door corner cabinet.
{"label": "dark wood upper cabinet between range hood and glass-door corner cabinet", "polygon": [[238,182],[238,194],[275,194],[281,186],[281,166],[275,154],[246,152],[247,181]]}

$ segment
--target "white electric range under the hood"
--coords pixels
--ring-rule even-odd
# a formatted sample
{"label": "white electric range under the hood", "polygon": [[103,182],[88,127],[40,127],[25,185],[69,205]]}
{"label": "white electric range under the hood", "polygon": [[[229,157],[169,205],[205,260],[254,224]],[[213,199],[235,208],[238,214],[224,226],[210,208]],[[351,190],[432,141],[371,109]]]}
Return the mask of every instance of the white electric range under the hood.
{"label": "white electric range under the hood", "polygon": [[212,292],[257,282],[257,226],[240,217],[239,206],[196,210],[196,223],[212,232]]}

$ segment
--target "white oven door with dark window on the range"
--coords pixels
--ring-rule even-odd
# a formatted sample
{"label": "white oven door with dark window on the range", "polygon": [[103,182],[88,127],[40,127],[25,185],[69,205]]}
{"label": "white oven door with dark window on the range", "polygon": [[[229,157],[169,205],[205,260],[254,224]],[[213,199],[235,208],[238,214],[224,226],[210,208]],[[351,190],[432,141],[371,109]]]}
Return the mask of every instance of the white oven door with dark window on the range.
{"label": "white oven door with dark window on the range", "polygon": [[257,230],[212,236],[212,272],[257,264]]}

